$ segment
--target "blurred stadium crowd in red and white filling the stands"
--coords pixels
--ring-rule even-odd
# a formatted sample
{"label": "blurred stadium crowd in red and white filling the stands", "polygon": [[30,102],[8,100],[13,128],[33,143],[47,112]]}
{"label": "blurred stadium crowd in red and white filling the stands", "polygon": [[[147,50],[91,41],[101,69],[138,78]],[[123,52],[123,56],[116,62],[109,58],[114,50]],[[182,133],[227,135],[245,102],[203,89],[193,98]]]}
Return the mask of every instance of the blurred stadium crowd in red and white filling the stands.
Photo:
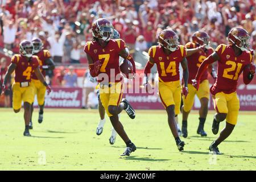
{"label": "blurred stadium crowd in red and white filling the stands", "polygon": [[[20,40],[40,38],[56,65],[86,65],[83,48],[98,18],[111,20],[133,54],[147,52],[166,28],[174,30],[183,45],[193,32],[206,31],[216,48],[227,43],[232,27],[240,26],[256,50],[255,0],[1,0],[0,7],[0,48],[18,53]],[[147,60],[134,57],[143,68]],[[76,76],[71,79],[73,67],[58,70],[56,85],[77,85]],[[51,81],[53,73],[47,75]]]}

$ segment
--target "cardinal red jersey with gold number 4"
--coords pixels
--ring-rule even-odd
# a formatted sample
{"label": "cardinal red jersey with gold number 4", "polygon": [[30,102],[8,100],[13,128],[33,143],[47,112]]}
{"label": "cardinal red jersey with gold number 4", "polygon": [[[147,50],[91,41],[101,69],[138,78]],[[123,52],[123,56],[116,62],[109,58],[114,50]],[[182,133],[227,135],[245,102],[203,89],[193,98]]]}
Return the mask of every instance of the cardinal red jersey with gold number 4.
{"label": "cardinal red jersey with gold number 4", "polygon": [[32,72],[39,66],[39,58],[38,56],[32,56],[30,60],[27,61],[26,57],[16,54],[11,58],[11,63],[16,64],[15,82],[30,82]]}

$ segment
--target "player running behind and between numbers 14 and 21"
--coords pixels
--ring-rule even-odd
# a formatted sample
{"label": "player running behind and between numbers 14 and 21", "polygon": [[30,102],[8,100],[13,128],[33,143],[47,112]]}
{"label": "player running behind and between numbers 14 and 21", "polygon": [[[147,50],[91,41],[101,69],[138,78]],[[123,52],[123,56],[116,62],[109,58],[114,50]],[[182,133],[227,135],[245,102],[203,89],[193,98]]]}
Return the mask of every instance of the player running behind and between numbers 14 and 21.
{"label": "player running behind and between numbers 14 and 21", "polygon": [[[182,135],[184,138],[187,138],[187,120],[188,114],[193,106],[195,95],[200,100],[200,110],[199,110],[199,126],[197,127],[197,134],[200,134],[202,137],[207,136],[207,133],[204,131],[204,123],[208,113],[208,102],[209,102],[209,81],[208,81],[208,72],[212,75],[213,79],[216,80],[216,72],[212,65],[208,66],[208,72],[205,70],[203,76],[201,77],[201,83],[198,90],[192,86],[192,79],[195,78],[200,64],[214,52],[212,47],[209,47],[209,35],[204,31],[196,31],[192,35],[192,42],[188,42],[185,47],[187,48],[187,60],[188,60],[188,96],[183,97],[183,106],[182,106]],[[192,51],[194,50],[194,51]],[[188,53],[189,52],[189,53]]]}

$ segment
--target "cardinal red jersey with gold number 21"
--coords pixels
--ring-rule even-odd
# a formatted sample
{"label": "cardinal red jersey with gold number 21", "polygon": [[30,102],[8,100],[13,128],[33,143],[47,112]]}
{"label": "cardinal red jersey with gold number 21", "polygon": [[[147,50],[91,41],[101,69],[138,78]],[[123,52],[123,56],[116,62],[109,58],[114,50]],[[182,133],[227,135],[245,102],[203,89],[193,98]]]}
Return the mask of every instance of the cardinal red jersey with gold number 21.
{"label": "cardinal red jersey with gold number 21", "polygon": [[249,51],[243,51],[240,56],[236,56],[233,48],[225,44],[220,44],[215,51],[220,60],[218,60],[217,81],[211,88],[212,94],[236,92],[238,77],[243,68],[251,63],[253,55]]}

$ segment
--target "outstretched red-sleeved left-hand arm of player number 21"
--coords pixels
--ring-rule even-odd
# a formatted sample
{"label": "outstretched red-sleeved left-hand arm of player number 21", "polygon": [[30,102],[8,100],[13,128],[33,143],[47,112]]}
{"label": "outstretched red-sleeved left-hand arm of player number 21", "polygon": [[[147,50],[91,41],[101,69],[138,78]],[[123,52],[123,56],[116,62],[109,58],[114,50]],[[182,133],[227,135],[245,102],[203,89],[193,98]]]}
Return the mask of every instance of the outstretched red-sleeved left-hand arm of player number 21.
{"label": "outstretched red-sleeved left-hand arm of player number 21", "polygon": [[213,52],[210,56],[208,56],[203,63],[201,63],[199,69],[197,70],[197,74],[194,80],[192,80],[192,85],[198,89],[199,88],[199,84],[200,84],[200,80],[201,80],[201,76],[203,75],[203,73],[205,72],[205,70],[207,69],[209,64],[214,63],[215,61],[219,60],[220,57],[218,56],[218,54],[216,52]]}

